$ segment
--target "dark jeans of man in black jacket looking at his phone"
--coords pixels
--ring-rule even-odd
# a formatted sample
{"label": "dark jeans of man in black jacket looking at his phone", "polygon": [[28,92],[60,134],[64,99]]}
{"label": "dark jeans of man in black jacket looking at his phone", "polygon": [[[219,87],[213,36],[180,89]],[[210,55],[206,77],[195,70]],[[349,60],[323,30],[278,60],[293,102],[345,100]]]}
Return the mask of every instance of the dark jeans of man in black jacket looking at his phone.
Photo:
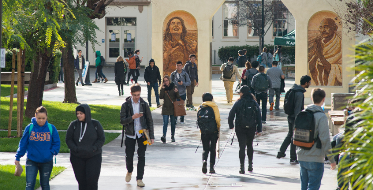
{"label": "dark jeans of man in black jacket looking at his phone", "polygon": [[[136,133],[135,133],[136,134]],[[136,135],[136,139],[129,138],[126,136],[124,144],[126,145],[126,166],[129,173],[133,172],[133,155],[135,153],[135,145],[137,141],[137,177],[136,180],[142,180],[144,176],[144,167],[145,167],[145,151],[146,145],[143,144],[143,140],[139,139]]]}

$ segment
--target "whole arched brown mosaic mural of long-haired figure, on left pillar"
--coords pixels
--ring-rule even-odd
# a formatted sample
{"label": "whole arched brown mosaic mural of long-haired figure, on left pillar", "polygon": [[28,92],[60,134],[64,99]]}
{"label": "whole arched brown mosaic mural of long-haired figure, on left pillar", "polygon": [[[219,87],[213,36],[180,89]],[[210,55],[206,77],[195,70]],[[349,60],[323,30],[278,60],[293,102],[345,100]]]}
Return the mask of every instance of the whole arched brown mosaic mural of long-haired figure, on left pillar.
{"label": "whole arched brown mosaic mural of long-haired figure, on left pillar", "polygon": [[170,76],[178,61],[184,66],[190,54],[195,54],[198,60],[197,33],[197,21],[188,12],[176,11],[166,17],[163,23],[163,76]]}

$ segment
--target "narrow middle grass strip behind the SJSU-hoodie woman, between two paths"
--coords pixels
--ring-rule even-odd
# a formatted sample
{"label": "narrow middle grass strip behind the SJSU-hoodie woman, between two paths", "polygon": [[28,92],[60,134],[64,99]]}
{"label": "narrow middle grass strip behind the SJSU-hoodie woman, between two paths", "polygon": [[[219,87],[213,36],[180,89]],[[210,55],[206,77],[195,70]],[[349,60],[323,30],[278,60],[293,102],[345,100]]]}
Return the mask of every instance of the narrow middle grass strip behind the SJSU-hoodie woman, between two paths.
{"label": "narrow middle grass strip behind the SJSU-hoodie woman, between two paths", "polygon": [[[59,131],[58,134],[60,135],[61,140],[61,148],[60,153],[70,153],[69,148],[67,147],[67,144],[65,142],[66,132]],[[105,132],[105,143],[107,144],[110,141],[114,140],[116,137],[118,137],[121,133],[107,133]],[[0,152],[16,152],[18,149],[18,144],[21,138],[7,138],[8,132],[7,131],[0,131]],[[16,131],[11,132],[12,136],[16,136]],[[58,159],[58,155],[57,155]],[[13,171],[14,172],[14,171]],[[1,188],[0,188],[1,189]]]}

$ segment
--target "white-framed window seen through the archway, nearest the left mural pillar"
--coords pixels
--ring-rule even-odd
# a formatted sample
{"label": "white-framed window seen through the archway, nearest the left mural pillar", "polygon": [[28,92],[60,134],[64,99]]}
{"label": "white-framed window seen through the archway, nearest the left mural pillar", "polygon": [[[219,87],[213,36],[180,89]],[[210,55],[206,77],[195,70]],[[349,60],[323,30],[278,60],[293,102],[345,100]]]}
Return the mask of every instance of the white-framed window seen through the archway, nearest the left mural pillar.
{"label": "white-framed window seen through the archway, nearest the left mural pillar", "polygon": [[237,4],[224,3],[223,5],[223,36],[224,37],[238,37],[238,26],[229,21],[236,17]]}

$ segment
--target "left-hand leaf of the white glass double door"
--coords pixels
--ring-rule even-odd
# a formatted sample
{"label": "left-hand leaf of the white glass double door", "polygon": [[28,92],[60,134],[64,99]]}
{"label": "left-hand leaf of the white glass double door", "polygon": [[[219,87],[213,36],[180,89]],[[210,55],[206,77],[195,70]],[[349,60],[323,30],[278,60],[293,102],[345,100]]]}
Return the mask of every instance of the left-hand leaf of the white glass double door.
{"label": "left-hand leaf of the white glass double door", "polygon": [[[106,40],[109,42],[108,45],[108,57],[105,58],[106,62],[116,62],[116,58],[120,55],[120,39],[121,39],[121,30],[120,27],[110,27],[107,29]],[[103,52],[101,52],[102,56]],[[106,54],[107,56],[107,54]]]}

